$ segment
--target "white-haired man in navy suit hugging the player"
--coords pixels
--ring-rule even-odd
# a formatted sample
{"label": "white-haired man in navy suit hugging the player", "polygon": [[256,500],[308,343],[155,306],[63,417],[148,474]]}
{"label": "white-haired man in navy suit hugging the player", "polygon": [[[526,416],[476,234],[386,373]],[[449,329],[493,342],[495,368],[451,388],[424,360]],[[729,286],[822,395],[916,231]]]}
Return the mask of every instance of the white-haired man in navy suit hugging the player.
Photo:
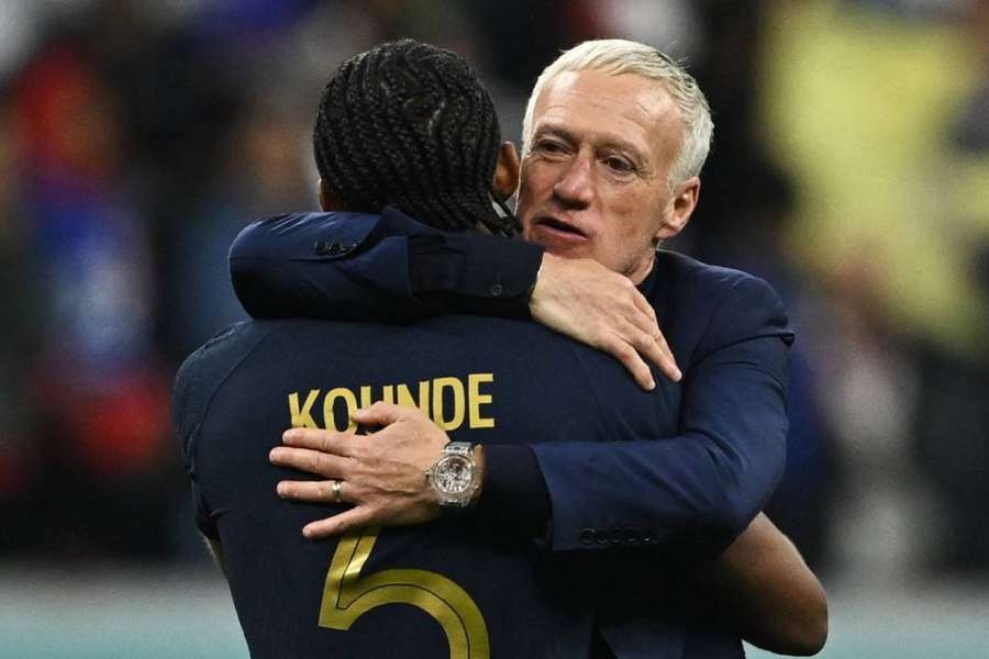
{"label": "white-haired man in navy suit hugging the player", "polygon": [[[321,316],[376,303],[388,305],[380,315],[402,303],[411,310],[443,303],[473,312],[531,312],[612,353],[644,383],[651,375],[643,375],[635,351],[659,362],[668,342],[685,376],[676,436],[553,444],[533,437],[529,444],[479,446],[466,467],[482,483],[470,516],[537,529],[534,539],[551,555],[586,560],[589,579],[600,583],[598,627],[615,656],[734,656],[741,652],[737,635],[720,633],[716,622],[704,621],[703,634],[665,635],[700,623],[647,578],[658,569],[656,557],[670,556],[670,548],[699,560],[731,543],[768,499],[785,461],[793,335],[778,298],[745,273],[657,250],[686,226],[698,201],[712,133],[707,101],[692,77],[656,49],[588,42],[540,77],[523,131],[518,216],[523,235],[545,254],[473,234],[423,243],[412,227],[401,243],[402,231],[392,224],[388,235],[369,227],[344,253],[319,264],[288,252],[281,263],[259,261],[249,256],[252,237],[242,236],[231,253],[237,293],[249,310],[257,280],[274,282],[265,294],[279,287],[291,292],[297,282],[309,300],[325,287]],[[327,223],[321,238],[335,244],[340,224]],[[533,278],[536,258],[541,272]],[[289,261],[291,277],[285,275]],[[299,268],[304,277],[296,276]],[[668,365],[666,370],[676,373]],[[287,433],[291,448],[277,453],[279,465],[313,469],[313,451],[321,451],[325,459],[313,470],[333,483],[314,489],[286,481],[281,495],[319,501],[332,491],[354,504],[309,524],[307,535],[440,516],[438,496],[410,496],[389,488],[388,479],[396,469],[411,478],[438,465],[446,433],[416,411],[387,403],[357,420],[387,426],[374,435],[374,455],[355,454],[346,433],[315,429]],[[430,488],[423,479],[422,492]],[[687,638],[686,647],[657,646],[673,638]]]}

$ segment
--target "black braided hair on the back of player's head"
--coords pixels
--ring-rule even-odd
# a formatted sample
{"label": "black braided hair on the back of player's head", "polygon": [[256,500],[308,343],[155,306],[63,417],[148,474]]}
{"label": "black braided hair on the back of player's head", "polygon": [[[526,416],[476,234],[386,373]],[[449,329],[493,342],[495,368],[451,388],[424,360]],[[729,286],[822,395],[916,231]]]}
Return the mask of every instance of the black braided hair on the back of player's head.
{"label": "black braided hair on the back of player's head", "polygon": [[511,235],[516,220],[491,204],[500,141],[491,97],[470,65],[409,38],[344,62],[313,131],[320,176],[348,211],[391,204],[436,228],[481,222]]}

